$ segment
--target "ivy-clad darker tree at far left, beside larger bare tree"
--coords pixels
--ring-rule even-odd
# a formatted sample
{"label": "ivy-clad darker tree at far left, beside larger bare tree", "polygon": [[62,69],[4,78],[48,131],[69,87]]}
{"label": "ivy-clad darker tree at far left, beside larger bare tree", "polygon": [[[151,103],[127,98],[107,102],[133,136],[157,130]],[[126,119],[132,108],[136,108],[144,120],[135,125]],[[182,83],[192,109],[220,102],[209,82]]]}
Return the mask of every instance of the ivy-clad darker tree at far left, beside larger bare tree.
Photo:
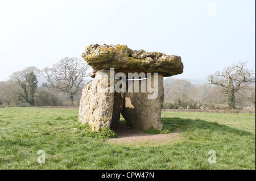
{"label": "ivy-clad darker tree at far left, beside larger bare tree", "polygon": [[37,77],[41,73],[34,66],[28,67],[21,71],[14,72],[10,77],[11,81],[17,83],[22,91],[19,93],[20,98],[31,106],[35,105],[35,91],[38,87]]}

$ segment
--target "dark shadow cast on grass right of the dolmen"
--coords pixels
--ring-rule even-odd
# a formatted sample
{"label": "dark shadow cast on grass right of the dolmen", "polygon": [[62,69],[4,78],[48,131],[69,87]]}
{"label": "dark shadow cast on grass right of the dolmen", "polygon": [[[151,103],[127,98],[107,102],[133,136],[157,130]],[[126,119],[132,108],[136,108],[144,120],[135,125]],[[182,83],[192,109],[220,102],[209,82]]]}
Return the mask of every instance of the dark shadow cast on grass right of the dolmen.
{"label": "dark shadow cast on grass right of the dolmen", "polygon": [[180,117],[162,117],[164,127],[182,128],[183,132],[191,129],[209,129],[210,131],[217,131],[222,133],[234,133],[239,136],[254,136],[253,133],[243,131],[237,128],[231,128],[227,125],[218,124],[217,122],[209,122],[200,119],[183,119]]}

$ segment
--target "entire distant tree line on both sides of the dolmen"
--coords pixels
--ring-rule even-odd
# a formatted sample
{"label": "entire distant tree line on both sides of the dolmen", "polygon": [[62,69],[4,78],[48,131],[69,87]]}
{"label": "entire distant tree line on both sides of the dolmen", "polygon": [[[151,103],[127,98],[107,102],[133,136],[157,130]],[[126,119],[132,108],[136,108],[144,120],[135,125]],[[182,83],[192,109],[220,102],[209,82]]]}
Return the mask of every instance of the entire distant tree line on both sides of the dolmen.
{"label": "entire distant tree line on both sides of the dolmen", "polygon": [[[239,62],[205,77],[194,85],[185,79],[164,79],[163,108],[170,109],[255,109],[253,70]],[[88,77],[88,65],[79,58],[65,57],[51,68],[29,67],[16,71],[9,81],[0,82],[0,105],[79,106],[81,90]],[[38,85],[38,77],[46,82]]]}

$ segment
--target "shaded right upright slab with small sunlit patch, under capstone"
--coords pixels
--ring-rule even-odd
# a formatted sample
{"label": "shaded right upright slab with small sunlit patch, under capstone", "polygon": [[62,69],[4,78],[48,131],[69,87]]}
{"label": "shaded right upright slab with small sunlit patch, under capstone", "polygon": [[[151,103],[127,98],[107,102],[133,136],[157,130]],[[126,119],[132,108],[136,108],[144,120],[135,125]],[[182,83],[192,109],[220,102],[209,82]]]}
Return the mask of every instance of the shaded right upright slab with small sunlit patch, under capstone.
{"label": "shaded right upright slab with small sunlit patch, under capstone", "polygon": [[[142,82],[146,79],[138,81],[141,87]],[[161,110],[163,106],[164,90],[163,90],[163,75],[158,74],[157,97],[155,99],[148,99],[148,91],[146,92],[126,92],[123,93],[123,107],[122,115],[127,121],[127,125],[134,129],[147,130],[151,127],[161,130],[163,127],[161,121]],[[133,81],[133,86],[134,87]],[[151,79],[154,84],[154,75]],[[152,86],[153,88],[153,86]],[[128,88],[127,88],[128,90]]]}

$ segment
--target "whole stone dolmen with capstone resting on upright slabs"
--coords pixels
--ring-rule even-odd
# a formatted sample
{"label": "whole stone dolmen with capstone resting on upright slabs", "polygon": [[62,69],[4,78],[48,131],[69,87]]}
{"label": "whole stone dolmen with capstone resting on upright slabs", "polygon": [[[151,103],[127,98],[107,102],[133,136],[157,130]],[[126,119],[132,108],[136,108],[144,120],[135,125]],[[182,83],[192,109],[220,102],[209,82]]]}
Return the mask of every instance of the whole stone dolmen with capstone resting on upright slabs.
{"label": "whole stone dolmen with capstone resting on upright slabs", "polygon": [[181,57],[131,50],[126,45],[89,45],[82,58],[94,78],[82,90],[79,121],[92,131],[117,127],[120,114],[133,129],[161,130],[163,77],[183,73]]}

